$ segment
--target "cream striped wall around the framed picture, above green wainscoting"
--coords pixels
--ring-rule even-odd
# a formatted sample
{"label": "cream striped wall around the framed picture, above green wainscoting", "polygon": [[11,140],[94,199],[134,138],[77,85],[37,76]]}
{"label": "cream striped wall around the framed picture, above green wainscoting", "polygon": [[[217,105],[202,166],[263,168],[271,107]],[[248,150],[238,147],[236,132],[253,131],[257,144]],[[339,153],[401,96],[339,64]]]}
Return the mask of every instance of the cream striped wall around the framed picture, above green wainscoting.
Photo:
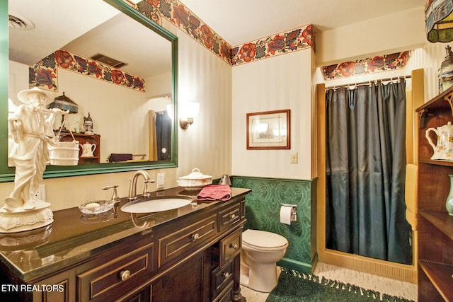
{"label": "cream striped wall around the framed picture, above green wainscoting", "polygon": [[[311,179],[312,50],[233,67],[233,175]],[[291,149],[247,150],[246,114],[291,110]],[[290,163],[292,152],[299,163]]]}

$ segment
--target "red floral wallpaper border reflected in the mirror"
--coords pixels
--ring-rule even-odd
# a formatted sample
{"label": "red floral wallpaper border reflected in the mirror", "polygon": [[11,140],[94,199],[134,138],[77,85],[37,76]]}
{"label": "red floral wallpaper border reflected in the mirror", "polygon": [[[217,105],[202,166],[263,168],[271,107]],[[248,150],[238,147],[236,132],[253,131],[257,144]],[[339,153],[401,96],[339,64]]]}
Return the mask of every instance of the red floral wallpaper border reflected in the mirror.
{"label": "red floral wallpaper border reflected in the mirror", "polygon": [[57,50],[29,67],[28,86],[58,91],[58,68],[144,92],[144,79],[66,50]]}

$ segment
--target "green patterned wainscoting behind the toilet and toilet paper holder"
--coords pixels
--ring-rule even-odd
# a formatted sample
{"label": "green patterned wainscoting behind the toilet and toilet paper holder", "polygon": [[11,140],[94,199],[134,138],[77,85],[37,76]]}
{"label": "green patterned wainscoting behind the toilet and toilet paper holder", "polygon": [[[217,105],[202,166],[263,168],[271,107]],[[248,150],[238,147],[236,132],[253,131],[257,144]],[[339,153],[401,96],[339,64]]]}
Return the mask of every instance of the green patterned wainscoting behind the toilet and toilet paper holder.
{"label": "green patterned wainscoting behind the toilet and toilet paper holder", "polygon": [[[277,264],[311,274],[316,257],[316,198],[312,180],[232,176],[233,187],[251,189],[246,197],[245,228],[270,231],[287,238],[285,257]],[[297,221],[280,223],[280,204],[297,205]]]}

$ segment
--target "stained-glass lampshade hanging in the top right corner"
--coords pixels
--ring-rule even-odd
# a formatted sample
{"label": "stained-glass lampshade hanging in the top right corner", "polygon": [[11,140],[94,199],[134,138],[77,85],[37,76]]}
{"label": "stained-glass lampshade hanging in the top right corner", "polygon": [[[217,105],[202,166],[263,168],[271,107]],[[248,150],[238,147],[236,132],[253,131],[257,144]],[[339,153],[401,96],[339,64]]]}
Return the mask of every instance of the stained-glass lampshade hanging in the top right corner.
{"label": "stained-glass lampshade hanging in the top right corner", "polygon": [[453,41],[453,0],[428,0],[425,26],[428,41]]}

